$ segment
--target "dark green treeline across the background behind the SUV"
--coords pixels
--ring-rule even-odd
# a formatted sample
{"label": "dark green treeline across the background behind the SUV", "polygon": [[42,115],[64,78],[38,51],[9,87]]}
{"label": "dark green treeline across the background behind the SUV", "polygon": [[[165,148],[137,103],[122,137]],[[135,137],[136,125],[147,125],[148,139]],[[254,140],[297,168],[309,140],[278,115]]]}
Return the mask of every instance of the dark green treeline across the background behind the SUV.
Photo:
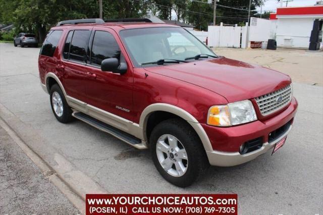
{"label": "dark green treeline across the background behind the SUV", "polygon": [[[151,11],[160,19],[171,19],[172,11],[178,21],[207,30],[213,20],[213,7],[206,0],[103,0],[103,18],[142,17]],[[262,1],[263,2],[263,1]],[[252,0],[251,16],[261,0]],[[217,8],[217,23],[245,23],[249,0],[221,0]],[[68,19],[98,18],[98,0],[0,0],[0,23],[14,23],[16,31],[34,32],[43,41],[49,28]],[[239,8],[243,10],[237,10]]]}

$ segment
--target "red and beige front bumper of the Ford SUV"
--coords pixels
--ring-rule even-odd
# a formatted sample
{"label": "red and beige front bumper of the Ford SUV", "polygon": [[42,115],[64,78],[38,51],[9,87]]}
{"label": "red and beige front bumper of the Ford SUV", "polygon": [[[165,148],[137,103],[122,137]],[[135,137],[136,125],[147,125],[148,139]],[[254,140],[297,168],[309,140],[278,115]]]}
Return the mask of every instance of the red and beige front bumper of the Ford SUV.
{"label": "red and beige front bumper of the Ford SUV", "polygon": [[[249,162],[257,156],[272,149],[278,141],[287,136],[292,125],[286,132],[272,142],[268,142],[268,135],[286,123],[290,121],[293,122],[297,106],[297,100],[293,97],[290,105],[285,111],[263,122],[255,121],[230,128],[202,125],[213,148],[212,151],[206,150],[210,165],[220,167],[240,165]],[[262,137],[264,142],[259,149],[245,154],[239,153],[239,147],[241,144],[258,137]]]}

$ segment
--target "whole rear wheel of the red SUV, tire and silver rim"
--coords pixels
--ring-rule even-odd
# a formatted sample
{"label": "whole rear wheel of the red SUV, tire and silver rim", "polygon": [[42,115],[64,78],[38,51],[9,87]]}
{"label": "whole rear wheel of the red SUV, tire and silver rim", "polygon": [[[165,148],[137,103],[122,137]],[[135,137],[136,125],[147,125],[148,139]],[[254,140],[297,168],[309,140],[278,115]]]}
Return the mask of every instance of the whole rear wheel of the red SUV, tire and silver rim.
{"label": "whole rear wheel of the red SUV, tire and silver rim", "polygon": [[52,85],[50,88],[50,105],[56,119],[61,123],[69,123],[73,121],[72,109],[67,104],[64,93],[58,84]]}

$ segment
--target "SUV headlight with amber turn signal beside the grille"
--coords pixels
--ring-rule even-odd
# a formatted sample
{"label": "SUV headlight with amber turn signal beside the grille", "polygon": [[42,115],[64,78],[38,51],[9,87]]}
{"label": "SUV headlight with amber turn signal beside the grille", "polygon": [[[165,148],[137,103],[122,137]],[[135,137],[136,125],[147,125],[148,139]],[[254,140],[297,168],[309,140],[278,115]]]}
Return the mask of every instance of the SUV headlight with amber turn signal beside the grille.
{"label": "SUV headlight with amber turn signal beside the grille", "polygon": [[255,120],[257,116],[250,100],[211,106],[207,116],[207,124],[212,126],[233,126]]}

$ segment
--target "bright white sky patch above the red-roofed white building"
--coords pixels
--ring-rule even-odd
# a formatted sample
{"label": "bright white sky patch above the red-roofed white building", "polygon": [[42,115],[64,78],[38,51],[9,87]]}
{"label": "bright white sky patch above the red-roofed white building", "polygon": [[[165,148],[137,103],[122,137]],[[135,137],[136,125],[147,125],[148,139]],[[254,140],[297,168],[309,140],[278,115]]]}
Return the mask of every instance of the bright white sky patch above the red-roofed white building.
{"label": "bright white sky patch above the red-roofed white building", "polygon": [[[281,0],[286,1],[286,0]],[[288,7],[298,7],[298,6],[313,6],[318,0],[294,0],[293,2],[288,2]],[[221,0],[220,0],[221,2]],[[286,2],[282,3],[283,7],[286,7]],[[281,7],[281,3],[277,3],[277,0],[266,0],[262,6],[262,11],[272,11],[276,12],[277,8]],[[260,8],[257,8],[260,12]]]}

